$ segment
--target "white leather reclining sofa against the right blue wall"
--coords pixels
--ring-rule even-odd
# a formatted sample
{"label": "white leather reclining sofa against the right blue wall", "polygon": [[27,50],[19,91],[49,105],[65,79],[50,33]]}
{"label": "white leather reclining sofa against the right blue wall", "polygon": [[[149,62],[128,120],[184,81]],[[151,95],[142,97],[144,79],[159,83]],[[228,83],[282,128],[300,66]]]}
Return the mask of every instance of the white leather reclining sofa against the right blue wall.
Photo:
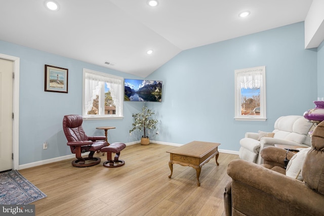
{"label": "white leather reclining sofa against the right blue wall", "polygon": [[291,145],[310,147],[310,137],[308,132],[313,124],[300,115],[288,115],[279,117],[274,123],[274,133],[272,137],[262,137],[258,140],[259,133],[248,132],[245,138],[239,141],[239,158],[254,163],[262,164],[263,159],[259,152],[267,146]]}

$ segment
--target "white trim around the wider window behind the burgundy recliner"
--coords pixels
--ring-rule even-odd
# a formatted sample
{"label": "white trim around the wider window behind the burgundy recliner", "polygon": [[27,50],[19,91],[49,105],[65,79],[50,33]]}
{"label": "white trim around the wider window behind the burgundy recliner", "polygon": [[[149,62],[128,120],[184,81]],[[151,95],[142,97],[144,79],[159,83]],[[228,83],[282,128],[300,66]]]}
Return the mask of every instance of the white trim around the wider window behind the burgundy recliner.
{"label": "white trim around the wider window behind the burgundy recliner", "polygon": [[[113,79],[118,79],[121,84],[120,84],[120,115],[119,116],[114,116],[114,115],[86,115],[86,108],[85,108],[85,92],[86,92],[86,73],[92,73],[97,76],[103,76],[103,77],[108,77],[108,78],[113,78]],[[120,76],[115,76],[111,75],[108,73],[103,73],[95,70],[90,70],[87,68],[83,69],[83,91],[82,91],[82,116],[84,120],[98,120],[98,119],[123,119],[124,118],[124,111],[123,111],[123,104],[124,104],[124,77]],[[116,104],[117,106],[117,104]]]}

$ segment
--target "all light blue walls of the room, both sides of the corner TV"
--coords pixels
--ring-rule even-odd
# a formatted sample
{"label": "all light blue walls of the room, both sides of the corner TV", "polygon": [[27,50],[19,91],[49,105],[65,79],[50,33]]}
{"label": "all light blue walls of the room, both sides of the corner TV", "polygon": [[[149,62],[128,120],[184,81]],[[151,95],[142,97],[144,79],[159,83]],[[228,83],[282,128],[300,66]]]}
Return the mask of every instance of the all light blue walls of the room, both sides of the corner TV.
{"label": "all light blue walls of the room, both sides of the corner TV", "polygon": [[[208,46],[183,51],[152,73],[163,80],[163,102],[145,103],[159,120],[160,135],[151,140],[185,144],[193,140],[220,142],[220,149],[238,151],[246,132],[272,131],[281,115],[302,115],[324,89],[317,88],[317,58],[323,45],[304,49],[304,24],[297,23]],[[19,164],[70,154],[62,131],[66,114],[82,114],[83,68],[140,78],[62,56],[25,48],[0,40],[0,53],[20,58]],[[44,65],[68,68],[68,94],[44,91]],[[234,70],[266,66],[267,121],[235,121]],[[324,66],[318,65],[320,71]],[[323,73],[318,76],[324,76]],[[322,80],[322,78],[321,78]],[[322,94],[324,97],[324,94]],[[133,142],[129,136],[132,113],[141,102],[124,102],[122,120],[89,120],[89,136],[103,135],[96,126],[116,126],[108,131],[110,142]],[[43,150],[44,142],[48,149]]]}

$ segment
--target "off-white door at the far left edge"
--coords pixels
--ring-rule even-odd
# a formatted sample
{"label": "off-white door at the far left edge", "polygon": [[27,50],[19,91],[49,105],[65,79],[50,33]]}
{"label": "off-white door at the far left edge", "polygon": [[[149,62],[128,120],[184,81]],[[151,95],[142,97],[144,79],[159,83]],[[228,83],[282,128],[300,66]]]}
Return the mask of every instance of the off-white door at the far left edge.
{"label": "off-white door at the far left edge", "polygon": [[0,59],[0,171],[12,169],[13,62]]}

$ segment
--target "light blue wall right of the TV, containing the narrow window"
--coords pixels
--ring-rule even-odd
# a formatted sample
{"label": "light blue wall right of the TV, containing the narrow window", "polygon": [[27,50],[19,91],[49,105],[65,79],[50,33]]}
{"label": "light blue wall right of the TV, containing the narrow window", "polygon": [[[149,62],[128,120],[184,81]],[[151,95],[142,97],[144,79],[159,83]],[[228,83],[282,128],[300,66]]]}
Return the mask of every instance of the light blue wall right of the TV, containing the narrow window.
{"label": "light blue wall right of the TV, containing the narrow window", "polygon": [[[266,66],[266,121],[234,120],[234,70]],[[183,51],[148,78],[163,80],[163,102],[148,103],[157,141],[220,142],[239,149],[246,132],[272,131],[282,115],[303,115],[317,99],[317,52],[296,23]],[[324,95],[323,95],[324,97]]]}

